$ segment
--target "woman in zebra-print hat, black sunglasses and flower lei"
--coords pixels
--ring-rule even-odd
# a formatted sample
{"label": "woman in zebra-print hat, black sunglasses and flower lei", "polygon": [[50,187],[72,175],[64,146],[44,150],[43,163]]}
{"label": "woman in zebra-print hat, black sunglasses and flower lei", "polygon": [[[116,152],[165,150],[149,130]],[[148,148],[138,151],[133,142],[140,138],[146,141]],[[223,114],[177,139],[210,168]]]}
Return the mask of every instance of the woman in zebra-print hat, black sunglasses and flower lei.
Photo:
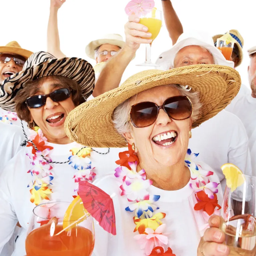
{"label": "woman in zebra-print hat, black sunglasses and flower lei", "polygon": [[72,201],[80,180],[103,176],[105,165],[113,163],[109,149],[85,148],[70,140],[64,130],[69,112],[85,102],[94,81],[93,68],[87,61],[56,59],[38,52],[26,61],[23,71],[1,84],[0,106],[16,110],[20,119],[37,132],[32,131],[26,147],[1,171],[0,253],[19,222],[22,231],[13,255],[24,256],[33,208],[49,201]]}

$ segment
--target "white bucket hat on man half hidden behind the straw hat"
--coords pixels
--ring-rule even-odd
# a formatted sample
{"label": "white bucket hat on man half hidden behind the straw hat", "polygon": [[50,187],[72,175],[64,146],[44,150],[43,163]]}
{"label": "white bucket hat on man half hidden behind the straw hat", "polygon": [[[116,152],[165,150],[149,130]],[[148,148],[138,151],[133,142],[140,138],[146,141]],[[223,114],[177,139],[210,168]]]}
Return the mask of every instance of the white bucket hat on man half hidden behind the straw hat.
{"label": "white bucket hat on man half hidden behind the straw hat", "polygon": [[226,60],[220,50],[218,50],[214,46],[213,39],[210,35],[203,32],[195,31],[181,34],[176,44],[173,45],[170,50],[160,54],[156,61],[156,64],[158,64],[160,66],[160,69],[162,70],[174,68],[174,59],[176,57],[176,54],[182,48],[189,45],[198,45],[205,47],[213,55],[215,62],[214,64],[216,65],[229,66],[231,68],[234,67],[234,62]]}

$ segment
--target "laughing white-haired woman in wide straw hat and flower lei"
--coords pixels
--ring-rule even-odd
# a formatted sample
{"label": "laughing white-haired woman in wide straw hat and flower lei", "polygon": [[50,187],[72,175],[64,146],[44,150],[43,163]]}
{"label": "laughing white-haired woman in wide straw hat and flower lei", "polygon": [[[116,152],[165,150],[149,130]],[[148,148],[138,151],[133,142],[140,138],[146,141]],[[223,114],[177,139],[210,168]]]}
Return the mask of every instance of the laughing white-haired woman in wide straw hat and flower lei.
{"label": "laughing white-haired woman in wide straw hat and flower lei", "polygon": [[117,226],[115,237],[96,226],[96,256],[229,254],[220,219],[212,216],[222,203],[219,179],[196,162],[188,142],[191,128],[225,108],[240,84],[226,66],[147,70],[70,112],[71,139],[129,148],[115,174],[95,182],[116,194]]}

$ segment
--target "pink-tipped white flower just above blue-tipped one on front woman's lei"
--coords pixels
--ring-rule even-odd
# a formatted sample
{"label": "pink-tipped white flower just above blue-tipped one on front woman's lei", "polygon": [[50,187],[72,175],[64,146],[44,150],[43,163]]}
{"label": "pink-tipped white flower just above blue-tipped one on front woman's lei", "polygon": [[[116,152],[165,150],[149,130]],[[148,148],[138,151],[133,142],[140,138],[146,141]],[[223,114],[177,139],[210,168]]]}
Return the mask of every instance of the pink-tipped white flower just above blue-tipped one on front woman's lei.
{"label": "pink-tipped white flower just above blue-tipped one on front woman's lei", "polygon": [[127,195],[127,199],[129,202],[140,200],[149,200],[149,193],[147,189],[152,185],[151,180],[142,180],[138,178],[134,178],[130,185],[126,185],[125,183],[120,186],[122,190],[121,196]]}

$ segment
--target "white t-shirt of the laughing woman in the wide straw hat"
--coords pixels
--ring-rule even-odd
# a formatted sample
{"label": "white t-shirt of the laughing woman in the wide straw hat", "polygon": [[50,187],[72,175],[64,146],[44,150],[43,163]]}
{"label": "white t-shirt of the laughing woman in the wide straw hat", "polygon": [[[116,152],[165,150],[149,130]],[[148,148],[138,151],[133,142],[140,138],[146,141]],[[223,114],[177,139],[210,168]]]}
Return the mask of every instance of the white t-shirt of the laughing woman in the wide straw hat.
{"label": "white t-shirt of the laughing woman in the wide straw hat", "polygon": [[[204,163],[200,165],[205,170],[212,170]],[[219,183],[216,174],[211,176],[210,180]],[[166,213],[166,217],[161,220],[163,224],[166,224],[164,233],[169,233],[168,246],[177,256],[197,255],[197,247],[207,225],[202,216],[202,210],[194,210],[197,200],[189,183],[176,191],[166,191],[154,186],[147,189],[150,195],[160,195],[159,201],[155,203],[160,209],[155,213]],[[145,251],[140,249],[140,245],[134,239],[134,236],[138,234],[138,232],[133,232],[136,226],[133,222],[134,213],[125,210],[131,203],[127,201],[126,196],[120,195],[120,183],[113,175],[109,175],[96,180],[94,185],[109,195],[116,194],[113,202],[117,235],[108,234],[96,224],[93,256],[145,256]],[[222,205],[223,195],[220,185],[218,189],[218,204]]]}

